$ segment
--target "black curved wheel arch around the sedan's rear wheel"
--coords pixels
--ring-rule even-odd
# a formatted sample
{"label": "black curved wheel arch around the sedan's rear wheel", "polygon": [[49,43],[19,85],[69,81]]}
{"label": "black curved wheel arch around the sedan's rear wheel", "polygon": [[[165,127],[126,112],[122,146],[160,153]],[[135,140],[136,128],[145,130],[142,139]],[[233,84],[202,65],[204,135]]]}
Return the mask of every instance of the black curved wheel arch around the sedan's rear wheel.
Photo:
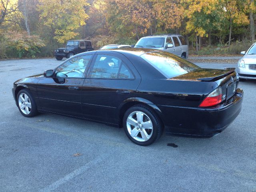
{"label": "black curved wheel arch around the sedan's rear wheel", "polygon": [[118,112],[119,112],[119,126],[120,127],[123,126],[122,125],[122,121],[123,121],[124,113],[129,108],[131,108],[132,106],[136,106],[136,105],[145,106],[146,108],[149,108],[149,109],[153,110],[153,112],[155,112],[156,115],[158,116],[158,118],[161,120],[161,123],[164,125],[163,119],[162,119],[162,111],[158,108],[158,106],[156,106],[155,104],[153,104],[149,100],[146,100],[144,98],[136,97],[136,98],[128,98],[128,99],[124,100],[122,105],[120,105],[120,107],[118,108]]}

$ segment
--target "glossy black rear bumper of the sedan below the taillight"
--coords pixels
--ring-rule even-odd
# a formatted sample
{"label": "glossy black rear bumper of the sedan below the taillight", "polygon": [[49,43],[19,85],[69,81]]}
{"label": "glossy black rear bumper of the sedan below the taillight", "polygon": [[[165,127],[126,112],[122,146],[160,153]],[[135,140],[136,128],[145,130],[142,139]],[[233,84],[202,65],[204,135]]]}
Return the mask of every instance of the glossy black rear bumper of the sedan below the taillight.
{"label": "glossy black rear bumper of the sedan below the taillight", "polygon": [[158,106],[166,133],[211,137],[219,134],[231,124],[242,108],[243,90],[215,108],[184,108]]}

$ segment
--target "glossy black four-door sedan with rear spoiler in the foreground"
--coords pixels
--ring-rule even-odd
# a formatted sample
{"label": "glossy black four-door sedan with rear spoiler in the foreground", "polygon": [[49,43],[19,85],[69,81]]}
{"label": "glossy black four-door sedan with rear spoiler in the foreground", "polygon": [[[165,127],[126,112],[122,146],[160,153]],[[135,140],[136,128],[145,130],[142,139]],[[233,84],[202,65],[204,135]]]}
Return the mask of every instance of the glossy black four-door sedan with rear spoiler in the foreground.
{"label": "glossy black four-door sedan with rear spoiler in the foreground", "polygon": [[14,82],[22,115],[50,112],[124,127],[132,142],[152,144],[163,131],[219,134],[238,116],[243,91],[233,68],[200,68],[168,52],[84,52],[53,70]]}

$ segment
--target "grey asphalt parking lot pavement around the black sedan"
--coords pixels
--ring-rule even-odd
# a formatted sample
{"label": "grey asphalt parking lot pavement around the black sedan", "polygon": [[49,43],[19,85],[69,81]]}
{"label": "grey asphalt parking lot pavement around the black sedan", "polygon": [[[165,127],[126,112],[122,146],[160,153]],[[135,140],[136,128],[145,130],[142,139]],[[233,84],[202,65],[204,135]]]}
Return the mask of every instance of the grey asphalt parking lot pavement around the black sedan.
{"label": "grey asphalt parking lot pavement around the black sedan", "polygon": [[0,61],[1,192],[256,191],[255,80],[240,82],[242,111],[219,135],[163,135],[143,147],[130,142],[123,129],[104,124],[53,114],[22,116],[13,82],[58,64],[55,59]]}

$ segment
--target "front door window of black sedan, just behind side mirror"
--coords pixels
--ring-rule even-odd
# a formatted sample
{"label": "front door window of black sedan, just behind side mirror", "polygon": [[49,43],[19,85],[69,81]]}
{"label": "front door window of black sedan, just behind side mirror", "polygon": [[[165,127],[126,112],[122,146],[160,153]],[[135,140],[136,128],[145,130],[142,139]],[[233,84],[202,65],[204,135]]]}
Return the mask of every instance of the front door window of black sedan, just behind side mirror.
{"label": "front door window of black sedan, just behind side mirror", "polygon": [[84,55],[68,60],[55,70],[56,77],[82,78],[92,55]]}

